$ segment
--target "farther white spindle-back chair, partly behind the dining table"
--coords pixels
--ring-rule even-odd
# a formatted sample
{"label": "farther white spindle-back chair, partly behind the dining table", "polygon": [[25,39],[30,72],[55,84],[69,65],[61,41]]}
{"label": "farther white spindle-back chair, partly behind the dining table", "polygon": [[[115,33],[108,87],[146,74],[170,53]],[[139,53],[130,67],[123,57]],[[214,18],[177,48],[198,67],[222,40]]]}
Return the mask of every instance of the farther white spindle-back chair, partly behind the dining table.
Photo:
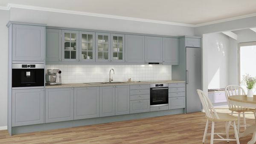
{"label": "farther white spindle-back chair, partly behind the dining table", "polygon": [[[246,127],[248,127],[250,125],[246,124],[245,112],[253,112],[254,117],[256,118],[255,109],[248,108],[248,107],[240,107],[240,106],[230,104],[230,101],[228,99],[228,97],[231,96],[231,95],[246,95],[245,92],[244,92],[244,89],[241,86],[238,86],[238,85],[229,85],[225,88],[225,95],[226,95],[226,98],[227,98],[227,104],[228,104],[229,110],[231,110],[231,115],[233,115],[234,112],[238,113],[237,131],[240,132],[240,127],[244,127],[244,130],[246,130]],[[243,113],[244,125],[240,124],[241,112]]]}

